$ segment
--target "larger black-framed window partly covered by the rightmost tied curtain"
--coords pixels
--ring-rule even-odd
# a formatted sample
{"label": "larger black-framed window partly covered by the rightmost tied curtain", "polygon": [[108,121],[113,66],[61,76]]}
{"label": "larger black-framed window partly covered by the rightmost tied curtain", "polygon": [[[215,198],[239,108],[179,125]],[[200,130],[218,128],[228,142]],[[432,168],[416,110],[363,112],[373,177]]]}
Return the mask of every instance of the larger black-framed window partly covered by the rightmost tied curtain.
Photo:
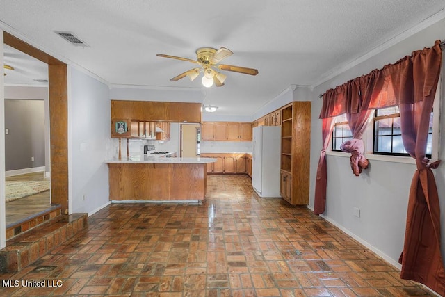
{"label": "larger black-framed window partly covered by the rightmost tied curtain", "polygon": [[[374,116],[373,154],[389,154],[392,156],[409,156],[403,147],[401,118],[398,106],[376,109]],[[432,153],[432,113],[426,156]]]}

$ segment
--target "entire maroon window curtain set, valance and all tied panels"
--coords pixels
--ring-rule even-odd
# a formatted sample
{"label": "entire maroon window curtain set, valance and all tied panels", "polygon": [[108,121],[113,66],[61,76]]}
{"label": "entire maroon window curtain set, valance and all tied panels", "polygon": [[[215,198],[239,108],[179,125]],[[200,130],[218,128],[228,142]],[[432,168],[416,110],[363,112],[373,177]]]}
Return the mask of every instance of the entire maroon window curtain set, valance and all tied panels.
{"label": "entire maroon window curtain set, valance and all tied panels", "polygon": [[325,211],[327,164],[324,151],[329,143],[329,136],[325,134],[332,134],[333,127],[324,125],[329,122],[327,119],[346,113],[353,140],[343,143],[342,149],[351,152],[351,168],[355,175],[359,175],[362,168],[367,166],[363,156],[362,133],[369,115],[374,109],[398,106],[403,146],[416,160],[417,168],[410,187],[405,242],[399,259],[402,264],[401,278],[426,284],[445,296],[439,195],[432,173],[440,161],[430,163],[426,159],[430,114],[441,67],[442,50],[437,40],[434,47],[414,51],[411,56],[386,65],[382,70],[374,70],[323,94],[320,113],[323,120],[323,150],[318,163],[314,212],[321,214]]}

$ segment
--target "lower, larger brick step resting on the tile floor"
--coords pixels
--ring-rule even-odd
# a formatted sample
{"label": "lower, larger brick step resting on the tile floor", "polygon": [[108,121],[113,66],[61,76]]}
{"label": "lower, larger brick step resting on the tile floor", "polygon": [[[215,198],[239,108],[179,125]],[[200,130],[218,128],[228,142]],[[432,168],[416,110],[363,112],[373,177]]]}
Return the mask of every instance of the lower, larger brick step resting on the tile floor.
{"label": "lower, larger brick step resting on the tile floor", "polygon": [[82,232],[87,214],[60,215],[6,241],[0,250],[0,272],[15,273]]}

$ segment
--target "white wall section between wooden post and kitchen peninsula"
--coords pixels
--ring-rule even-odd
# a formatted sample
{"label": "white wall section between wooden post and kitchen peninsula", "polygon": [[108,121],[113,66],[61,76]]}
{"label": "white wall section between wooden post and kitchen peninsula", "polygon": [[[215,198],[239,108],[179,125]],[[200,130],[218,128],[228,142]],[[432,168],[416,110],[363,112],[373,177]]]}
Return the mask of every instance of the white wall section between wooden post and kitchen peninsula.
{"label": "white wall section between wooden post and kitchen peninsula", "polygon": [[70,211],[92,214],[108,204],[109,89],[74,67],[68,85]]}

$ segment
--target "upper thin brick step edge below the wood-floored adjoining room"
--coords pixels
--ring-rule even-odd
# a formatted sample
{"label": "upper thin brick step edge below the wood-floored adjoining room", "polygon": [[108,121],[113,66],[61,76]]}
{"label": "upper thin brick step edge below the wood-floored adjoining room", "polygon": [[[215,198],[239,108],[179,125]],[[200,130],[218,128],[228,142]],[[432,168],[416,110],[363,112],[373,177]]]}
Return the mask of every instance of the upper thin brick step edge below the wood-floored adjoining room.
{"label": "upper thin brick step edge below the wood-floored adjoining room", "polygon": [[48,209],[41,211],[38,214],[34,214],[28,218],[24,218],[23,220],[19,220],[12,224],[6,225],[6,240],[12,239],[14,236],[22,234],[22,232],[26,232],[31,230],[34,227],[37,227],[40,224],[47,223],[51,218],[56,218],[56,216],[60,216],[62,207],[60,204],[51,204]]}

